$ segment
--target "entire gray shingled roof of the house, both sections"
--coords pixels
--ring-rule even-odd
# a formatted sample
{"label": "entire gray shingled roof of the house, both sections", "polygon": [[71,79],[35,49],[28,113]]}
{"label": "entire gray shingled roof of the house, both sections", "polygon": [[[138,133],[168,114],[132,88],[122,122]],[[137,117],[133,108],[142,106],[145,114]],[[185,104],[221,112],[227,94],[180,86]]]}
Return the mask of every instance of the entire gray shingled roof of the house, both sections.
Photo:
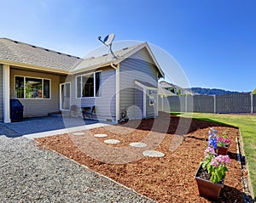
{"label": "entire gray shingled roof of the house, both sections", "polygon": [[164,72],[160,69],[160,65],[154,58],[154,54],[148,46],[147,42],[143,42],[129,48],[122,48],[114,55],[117,59],[113,59],[112,54],[105,54],[99,57],[90,57],[81,59],[69,54],[62,54],[47,48],[40,48],[24,42],[17,42],[8,38],[0,38],[0,64],[21,65],[32,67],[40,70],[52,70],[62,73],[77,73],[84,70],[91,70],[97,67],[103,67],[111,64],[119,64],[123,60],[136,54],[141,49],[146,48],[154,65],[160,72],[160,76],[164,77]]}

